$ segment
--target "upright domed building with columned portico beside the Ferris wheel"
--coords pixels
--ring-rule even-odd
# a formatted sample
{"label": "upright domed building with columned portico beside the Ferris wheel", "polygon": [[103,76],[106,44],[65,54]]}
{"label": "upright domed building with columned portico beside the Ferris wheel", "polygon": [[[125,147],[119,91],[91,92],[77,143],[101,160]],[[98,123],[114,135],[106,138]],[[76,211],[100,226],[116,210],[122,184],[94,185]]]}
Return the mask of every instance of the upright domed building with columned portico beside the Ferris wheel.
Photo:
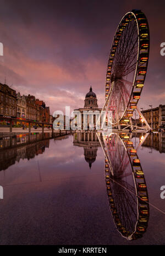
{"label": "upright domed building with columned portico beside the Ferris wheel", "polygon": [[[85,104],[84,104],[84,108],[78,108],[76,111],[80,111],[81,113],[81,123],[83,124],[83,111],[97,111],[98,112],[98,117],[100,116],[100,113],[102,111],[102,108],[98,108],[97,105],[97,97],[95,92],[92,91],[92,87],[90,87],[90,91],[87,92],[86,96],[85,96]],[[96,115],[94,116],[94,126],[96,125]],[[87,116],[87,124],[89,124],[89,115]]]}

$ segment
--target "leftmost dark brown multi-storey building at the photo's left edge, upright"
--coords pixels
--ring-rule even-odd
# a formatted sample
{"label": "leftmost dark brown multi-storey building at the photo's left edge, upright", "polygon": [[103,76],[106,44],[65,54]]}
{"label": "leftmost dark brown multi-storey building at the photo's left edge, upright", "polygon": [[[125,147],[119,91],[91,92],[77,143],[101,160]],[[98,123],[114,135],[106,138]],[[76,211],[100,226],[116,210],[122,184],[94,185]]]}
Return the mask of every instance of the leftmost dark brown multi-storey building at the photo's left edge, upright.
{"label": "leftmost dark brown multi-storey building at the photo's left edge, upright", "polygon": [[17,116],[16,91],[7,84],[0,83],[0,115],[3,117]]}

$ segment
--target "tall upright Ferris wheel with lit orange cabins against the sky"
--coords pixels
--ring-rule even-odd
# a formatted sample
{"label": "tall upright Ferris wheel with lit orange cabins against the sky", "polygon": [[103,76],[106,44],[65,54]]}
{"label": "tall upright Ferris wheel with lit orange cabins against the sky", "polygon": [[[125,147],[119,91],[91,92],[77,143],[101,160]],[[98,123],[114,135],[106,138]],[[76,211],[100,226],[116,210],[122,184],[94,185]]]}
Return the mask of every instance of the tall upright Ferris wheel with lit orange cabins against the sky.
{"label": "tall upright Ferris wheel with lit orange cabins against the sky", "polygon": [[103,108],[112,111],[112,125],[128,124],[144,87],[150,35],[146,16],[132,10],[120,21],[112,42]]}

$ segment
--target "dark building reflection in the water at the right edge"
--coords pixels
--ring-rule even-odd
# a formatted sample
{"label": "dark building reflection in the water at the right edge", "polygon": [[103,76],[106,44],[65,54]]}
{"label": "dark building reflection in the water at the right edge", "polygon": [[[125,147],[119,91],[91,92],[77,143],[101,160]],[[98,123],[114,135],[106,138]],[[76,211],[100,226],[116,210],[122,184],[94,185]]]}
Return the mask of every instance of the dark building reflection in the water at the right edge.
{"label": "dark building reflection in the water at the right edge", "polygon": [[142,146],[156,149],[160,153],[165,153],[165,133],[149,134]]}

